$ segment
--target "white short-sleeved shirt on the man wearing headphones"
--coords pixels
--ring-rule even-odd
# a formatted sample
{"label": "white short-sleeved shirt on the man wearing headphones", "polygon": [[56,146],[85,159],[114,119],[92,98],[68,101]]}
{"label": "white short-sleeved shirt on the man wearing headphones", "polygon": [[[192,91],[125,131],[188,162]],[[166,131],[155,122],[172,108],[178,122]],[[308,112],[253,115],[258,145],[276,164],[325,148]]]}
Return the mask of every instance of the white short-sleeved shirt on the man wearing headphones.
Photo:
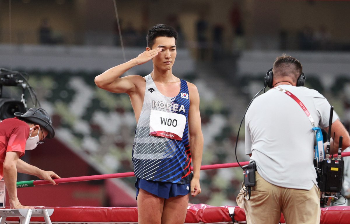
{"label": "white short-sleeved shirt on the man wearing headphones", "polygon": [[[330,104],[320,93],[306,87],[280,85],[306,106],[320,128],[329,125]],[[333,114],[332,123],[338,119]],[[302,108],[292,97],[270,89],[253,100],[245,116],[246,154],[269,183],[310,190],[316,182],[314,131]]]}

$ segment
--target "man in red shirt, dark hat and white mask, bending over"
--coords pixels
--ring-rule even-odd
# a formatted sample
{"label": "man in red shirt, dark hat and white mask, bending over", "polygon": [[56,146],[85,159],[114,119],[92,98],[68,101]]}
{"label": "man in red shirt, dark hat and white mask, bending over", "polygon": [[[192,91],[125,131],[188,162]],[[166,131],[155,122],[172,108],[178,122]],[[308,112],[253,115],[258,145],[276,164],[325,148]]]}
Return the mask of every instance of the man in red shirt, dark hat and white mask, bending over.
{"label": "man in red shirt, dark hat and white mask, bending over", "polygon": [[51,118],[44,109],[33,107],[25,114],[17,112],[14,115],[15,118],[0,122],[0,179],[3,177],[5,180],[11,209],[33,208],[21,205],[18,200],[17,172],[35,175],[53,185],[56,185],[53,179],[60,177],[19,158],[25,154],[25,150],[32,150],[37,144],[44,143],[45,138],[53,138],[55,131],[51,126]]}

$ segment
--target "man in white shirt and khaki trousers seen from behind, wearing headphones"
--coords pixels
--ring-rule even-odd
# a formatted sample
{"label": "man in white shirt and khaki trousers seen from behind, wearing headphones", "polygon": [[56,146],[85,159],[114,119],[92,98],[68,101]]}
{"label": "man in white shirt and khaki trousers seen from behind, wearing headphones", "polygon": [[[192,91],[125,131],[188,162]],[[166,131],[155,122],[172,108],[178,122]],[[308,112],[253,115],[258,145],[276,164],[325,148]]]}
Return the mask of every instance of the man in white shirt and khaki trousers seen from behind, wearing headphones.
{"label": "man in white shirt and khaki trousers seen from behind, wearing headphones", "polygon": [[[320,93],[303,86],[299,60],[282,55],[276,58],[270,88],[279,87],[294,94],[311,114],[316,127],[328,132],[330,104]],[[255,161],[255,186],[250,200],[237,197],[245,209],[247,223],[279,223],[281,212],[288,224],[320,223],[320,190],[313,164],[315,135],[300,104],[280,89],[258,96],[245,116],[246,154]],[[343,147],[350,146],[349,133],[333,115],[334,147],[343,136]]]}

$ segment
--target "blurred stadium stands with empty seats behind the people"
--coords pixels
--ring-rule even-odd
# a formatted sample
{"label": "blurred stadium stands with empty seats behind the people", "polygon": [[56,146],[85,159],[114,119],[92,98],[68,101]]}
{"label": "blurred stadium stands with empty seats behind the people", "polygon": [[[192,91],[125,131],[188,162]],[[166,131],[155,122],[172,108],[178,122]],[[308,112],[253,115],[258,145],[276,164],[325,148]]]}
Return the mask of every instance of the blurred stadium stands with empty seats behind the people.
{"label": "blurred stadium stands with empty seats behind the people", "polygon": [[[325,95],[349,128],[350,2],[117,0],[116,6],[120,30],[113,0],[0,0],[0,67],[29,74],[56,130],[54,139],[26,153],[30,164],[61,177],[133,171],[130,100],[97,88],[94,77],[123,63],[123,48],[126,60],[143,52],[146,32],[157,23],[179,31],[173,73],[200,91],[202,165],[236,162],[239,122],[282,53],[301,61],[306,86]],[[151,71],[149,62],[128,74]],[[16,87],[3,88],[3,94],[20,99]],[[240,133],[238,158],[247,161],[244,127]],[[201,179],[202,194],[190,203],[236,205],[241,169],[202,171]],[[20,175],[22,180],[36,177]],[[131,207],[134,181],[45,185],[18,193],[27,205]]]}

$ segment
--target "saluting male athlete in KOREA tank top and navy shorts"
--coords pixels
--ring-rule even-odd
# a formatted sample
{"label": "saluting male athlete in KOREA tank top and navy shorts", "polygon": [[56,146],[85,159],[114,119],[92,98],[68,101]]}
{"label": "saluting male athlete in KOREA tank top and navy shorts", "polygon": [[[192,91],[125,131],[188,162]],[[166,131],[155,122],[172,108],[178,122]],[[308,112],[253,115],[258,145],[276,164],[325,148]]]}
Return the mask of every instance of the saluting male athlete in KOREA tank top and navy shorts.
{"label": "saluting male athlete in KOREA tank top and navy shorts", "polygon": [[[200,99],[194,84],[172,72],[176,38],[172,27],[158,24],[148,31],[145,52],[95,78],[98,87],[130,96],[137,121],[132,161],[141,224],[184,223],[189,192],[201,193]],[[151,74],[119,78],[149,60]]]}

